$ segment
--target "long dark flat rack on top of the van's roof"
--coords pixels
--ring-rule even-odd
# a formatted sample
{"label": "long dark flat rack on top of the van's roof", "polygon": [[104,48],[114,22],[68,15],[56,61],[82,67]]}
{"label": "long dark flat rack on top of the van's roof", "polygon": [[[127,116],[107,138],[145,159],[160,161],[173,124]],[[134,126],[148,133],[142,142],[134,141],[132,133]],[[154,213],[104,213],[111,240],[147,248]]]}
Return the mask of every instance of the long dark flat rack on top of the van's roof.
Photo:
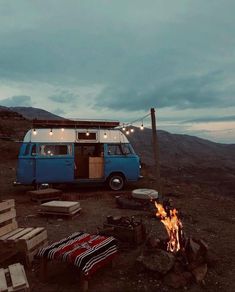
{"label": "long dark flat rack on top of the van's roof", "polygon": [[100,128],[110,129],[120,125],[118,121],[107,120],[38,120],[32,121],[33,128]]}

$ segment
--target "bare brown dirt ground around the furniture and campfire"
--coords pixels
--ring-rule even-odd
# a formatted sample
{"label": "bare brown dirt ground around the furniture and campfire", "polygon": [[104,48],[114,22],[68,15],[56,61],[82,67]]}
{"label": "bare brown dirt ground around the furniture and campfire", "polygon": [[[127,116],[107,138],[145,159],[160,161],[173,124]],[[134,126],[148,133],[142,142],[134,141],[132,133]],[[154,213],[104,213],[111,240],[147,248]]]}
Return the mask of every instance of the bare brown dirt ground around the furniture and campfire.
{"label": "bare brown dirt ground around the furniture and campfire", "polygon": [[[40,206],[32,202],[27,194],[30,187],[13,187],[16,161],[0,163],[0,199],[16,200],[17,220],[20,226],[45,226],[49,242],[62,239],[75,231],[97,232],[107,215],[135,216],[142,219],[147,232],[156,237],[166,236],[164,227],[147,211],[118,209],[115,196],[128,195],[134,188],[154,188],[150,176],[138,184],[128,186],[122,192],[110,192],[104,187],[83,187],[63,189],[65,198],[80,201],[82,212],[72,220],[39,216]],[[224,197],[206,185],[184,182],[179,179],[162,179],[163,195],[170,198],[180,211],[186,235],[204,239],[216,259],[203,285],[192,284],[178,291],[235,291],[235,202],[232,197]],[[89,291],[174,291],[153,273],[139,269],[136,259],[143,246],[122,248],[114,266],[98,271],[89,281]],[[11,259],[16,262],[19,259]],[[7,263],[4,263],[7,265]],[[76,269],[62,264],[52,264],[47,283],[39,281],[38,263],[27,270],[31,291],[69,292],[79,291]]]}

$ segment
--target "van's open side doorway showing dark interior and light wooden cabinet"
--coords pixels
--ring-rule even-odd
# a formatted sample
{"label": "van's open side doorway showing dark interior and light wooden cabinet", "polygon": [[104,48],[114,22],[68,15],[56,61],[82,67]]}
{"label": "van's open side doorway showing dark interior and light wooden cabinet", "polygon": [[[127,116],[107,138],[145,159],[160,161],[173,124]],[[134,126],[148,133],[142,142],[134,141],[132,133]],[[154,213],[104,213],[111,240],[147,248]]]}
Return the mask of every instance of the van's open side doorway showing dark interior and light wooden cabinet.
{"label": "van's open side doorway showing dark interior and light wooden cabinet", "polygon": [[74,145],[74,178],[104,177],[104,144],[76,143]]}

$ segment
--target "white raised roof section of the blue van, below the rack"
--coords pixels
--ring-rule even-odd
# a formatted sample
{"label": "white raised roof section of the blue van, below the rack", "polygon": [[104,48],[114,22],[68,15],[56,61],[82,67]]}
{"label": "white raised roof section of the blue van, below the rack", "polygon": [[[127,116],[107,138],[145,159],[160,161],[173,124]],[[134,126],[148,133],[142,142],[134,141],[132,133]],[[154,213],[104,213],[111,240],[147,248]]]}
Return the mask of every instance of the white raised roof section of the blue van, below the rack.
{"label": "white raised roof section of the blue van, below the rack", "polygon": [[[87,136],[86,133],[91,135]],[[50,134],[52,133],[52,134]],[[78,134],[83,133],[79,139]],[[94,133],[92,135],[92,133]],[[91,139],[95,137],[94,139]],[[90,138],[88,138],[90,137]],[[68,129],[43,128],[29,130],[23,142],[35,143],[129,143],[127,137],[119,129]]]}

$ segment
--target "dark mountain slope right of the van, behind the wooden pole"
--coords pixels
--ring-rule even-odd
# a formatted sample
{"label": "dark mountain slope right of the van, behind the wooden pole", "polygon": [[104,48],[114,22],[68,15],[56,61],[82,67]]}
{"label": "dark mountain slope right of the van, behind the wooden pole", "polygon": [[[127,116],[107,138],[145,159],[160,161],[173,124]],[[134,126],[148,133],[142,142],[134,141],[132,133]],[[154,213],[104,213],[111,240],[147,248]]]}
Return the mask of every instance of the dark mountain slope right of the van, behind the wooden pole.
{"label": "dark mountain slope right of the van, behind the wooden pole", "polygon": [[[209,185],[235,196],[235,144],[220,144],[189,135],[158,131],[161,176]],[[152,130],[135,129],[130,142],[145,166],[154,172]]]}

